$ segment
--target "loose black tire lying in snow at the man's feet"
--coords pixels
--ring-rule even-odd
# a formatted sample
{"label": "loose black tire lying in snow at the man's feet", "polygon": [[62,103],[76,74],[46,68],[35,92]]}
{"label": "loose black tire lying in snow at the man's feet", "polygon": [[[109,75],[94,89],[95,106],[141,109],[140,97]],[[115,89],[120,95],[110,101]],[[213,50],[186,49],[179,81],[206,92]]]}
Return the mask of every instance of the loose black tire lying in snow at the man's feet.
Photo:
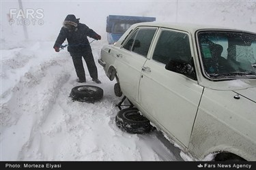
{"label": "loose black tire lying in snow at the man's feet", "polygon": [[103,90],[98,86],[75,86],[70,92],[70,97],[74,101],[94,103],[95,101],[102,99]]}

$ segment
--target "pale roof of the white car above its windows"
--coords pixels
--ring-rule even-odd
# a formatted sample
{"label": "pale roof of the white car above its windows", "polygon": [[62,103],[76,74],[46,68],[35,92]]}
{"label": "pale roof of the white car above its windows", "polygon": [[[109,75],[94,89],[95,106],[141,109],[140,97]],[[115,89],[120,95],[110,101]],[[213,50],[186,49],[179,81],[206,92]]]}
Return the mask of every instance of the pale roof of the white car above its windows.
{"label": "pale roof of the white car above its windows", "polygon": [[[207,24],[191,24],[191,23],[182,23],[182,22],[140,22],[137,24],[133,24],[132,28],[135,28],[138,26],[165,27],[165,28],[187,31],[190,33],[195,33],[200,29],[221,29],[221,30],[229,30],[229,31],[242,31],[240,29],[234,29],[230,27],[222,27],[222,26],[207,25]],[[249,31],[242,31],[242,32],[250,33]]]}

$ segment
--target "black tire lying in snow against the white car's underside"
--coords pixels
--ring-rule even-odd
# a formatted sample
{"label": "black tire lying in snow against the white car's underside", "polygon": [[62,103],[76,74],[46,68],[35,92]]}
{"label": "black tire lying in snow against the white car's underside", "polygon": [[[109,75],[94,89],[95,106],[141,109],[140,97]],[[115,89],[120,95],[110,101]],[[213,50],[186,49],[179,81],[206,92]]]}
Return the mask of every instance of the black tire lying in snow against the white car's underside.
{"label": "black tire lying in snow against the white car's underside", "polygon": [[122,131],[133,134],[150,133],[154,130],[150,120],[139,114],[139,109],[135,107],[120,110],[115,116],[115,123]]}

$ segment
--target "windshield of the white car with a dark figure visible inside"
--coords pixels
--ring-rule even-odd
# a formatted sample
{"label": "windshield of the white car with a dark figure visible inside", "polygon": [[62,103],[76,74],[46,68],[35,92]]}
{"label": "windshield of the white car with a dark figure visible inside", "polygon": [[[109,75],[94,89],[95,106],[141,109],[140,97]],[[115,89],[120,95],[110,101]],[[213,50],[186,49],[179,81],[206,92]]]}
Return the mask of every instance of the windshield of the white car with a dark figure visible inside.
{"label": "windshield of the white car with a dark figure visible inside", "polygon": [[197,36],[203,73],[208,78],[256,78],[255,34],[201,31]]}

